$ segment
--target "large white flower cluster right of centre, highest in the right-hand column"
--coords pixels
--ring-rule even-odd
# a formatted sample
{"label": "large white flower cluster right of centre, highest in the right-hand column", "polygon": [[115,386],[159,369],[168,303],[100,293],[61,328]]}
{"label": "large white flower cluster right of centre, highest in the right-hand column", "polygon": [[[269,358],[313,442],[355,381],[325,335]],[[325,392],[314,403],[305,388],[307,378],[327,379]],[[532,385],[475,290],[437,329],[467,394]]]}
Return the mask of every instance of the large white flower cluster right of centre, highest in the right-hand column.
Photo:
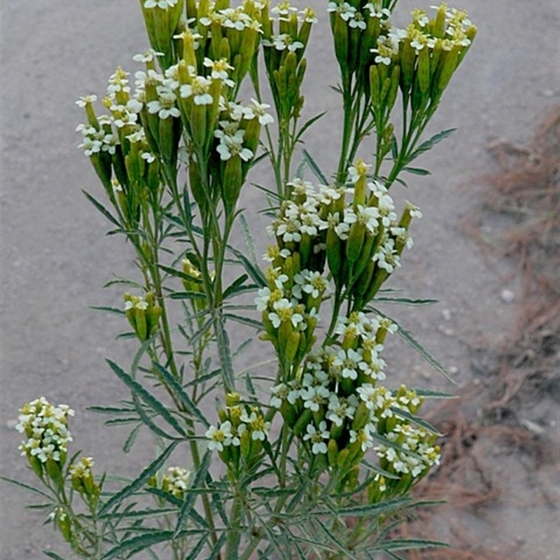
{"label": "large white flower cluster right of centre, highest in the right-hand column", "polygon": [[[421,217],[420,211],[407,203],[398,218],[385,186],[379,181],[368,181],[369,169],[370,165],[362,160],[349,167],[351,183],[346,188],[320,185],[316,190],[309,181],[301,179],[288,184],[290,199],[281,204],[279,215],[267,228],[269,235],[276,238],[277,246],[269,249],[269,286],[258,299],[272,339],[266,314],[284,305],[279,300],[288,299],[293,306],[300,303],[298,292],[295,297],[292,293],[298,272],[322,274],[326,260],[337,292],[345,289],[352,309],[359,311],[400,266],[405,246],[412,246],[408,228],[412,218]],[[289,297],[276,290],[286,291]],[[321,295],[323,292],[324,289]],[[319,305],[320,301],[313,302],[317,311]],[[274,323],[272,327],[277,328]]]}

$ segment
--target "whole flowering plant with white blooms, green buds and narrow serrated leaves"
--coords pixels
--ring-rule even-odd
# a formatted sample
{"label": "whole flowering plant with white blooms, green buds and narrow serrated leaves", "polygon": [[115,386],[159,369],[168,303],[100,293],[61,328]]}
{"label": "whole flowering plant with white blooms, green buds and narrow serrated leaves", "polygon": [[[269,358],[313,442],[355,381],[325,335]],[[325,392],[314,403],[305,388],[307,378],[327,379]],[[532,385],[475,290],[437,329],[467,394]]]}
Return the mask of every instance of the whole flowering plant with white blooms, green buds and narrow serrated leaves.
{"label": "whole flowering plant with white blooms, green buds and narrow serrated leaves", "polygon": [[[328,3],[344,116],[332,179],[298,151],[321,117],[301,123],[311,8],[141,0],[150,48],[134,57],[144,65],[134,90],[118,69],[106,114],[97,115],[94,95],[78,100],[87,116],[80,147],[106,202],[86,196],[130,241],[140,272],[125,281],[123,309],[103,308],[137,340],[127,370],[108,360],[130,399],[92,408],[135,424],[125,447],[147,426],[158,449],[115,489],[92,458],[68,457],[69,407],[40,398],[21,409],[20,449],[45,486],[36,491],[78,556],[397,559],[402,549],[442,545],[391,538],[416,505],[410,489],[440,460],[437,430],[419,409],[447,395],[386,386],[381,356],[395,332],[442,367],[378,307],[405,301],[382,286],[421,217],[409,202],[398,210],[389,190],[401,172],[425,174],[410,164],[451,132],[423,139],[476,29],[445,3],[431,18],[414,10],[398,29],[396,3]],[[244,80],[254,90],[248,102]],[[295,155],[304,165],[293,174]],[[275,186],[265,189],[273,243],[263,270],[238,201],[264,159]],[[231,241],[237,223],[246,251]],[[243,270],[229,284],[226,265]],[[246,293],[254,305],[239,303]],[[236,370],[235,323],[270,345],[268,370]],[[190,462],[174,466],[179,448]]]}

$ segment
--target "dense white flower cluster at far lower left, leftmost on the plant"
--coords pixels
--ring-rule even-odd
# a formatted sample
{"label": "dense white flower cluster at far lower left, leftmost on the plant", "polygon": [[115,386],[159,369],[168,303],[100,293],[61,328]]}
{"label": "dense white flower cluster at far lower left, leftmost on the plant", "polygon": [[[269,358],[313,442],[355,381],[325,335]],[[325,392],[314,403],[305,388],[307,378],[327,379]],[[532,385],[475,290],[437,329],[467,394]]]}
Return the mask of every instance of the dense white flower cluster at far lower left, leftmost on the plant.
{"label": "dense white flower cluster at far lower left, leftmost on the plant", "polygon": [[68,405],[55,407],[44,397],[32,400],[20,409],[16,428],[27,436],[27,441],[20,444],[20,450],[39,477],[46,474],[59,482],[68,443],[72,441],[68,419],[73,415],[74,411]]}

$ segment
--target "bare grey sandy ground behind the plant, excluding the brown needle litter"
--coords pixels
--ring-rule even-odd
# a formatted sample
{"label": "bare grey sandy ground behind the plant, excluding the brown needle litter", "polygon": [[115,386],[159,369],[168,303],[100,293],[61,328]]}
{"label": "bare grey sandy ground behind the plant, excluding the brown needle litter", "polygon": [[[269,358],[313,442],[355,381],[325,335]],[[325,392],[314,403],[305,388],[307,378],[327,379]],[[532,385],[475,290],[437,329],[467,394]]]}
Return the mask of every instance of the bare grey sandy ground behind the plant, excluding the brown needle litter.
{"label": "bare grey sandy ground behind the plant, excluding the brown needle litter", "polygon": [[[402,0],[400,12],[414,5]],[[425,219],[415,228],[414,251],[393,286],[440,300],[395,314],[454,372],[459,386],[470,387],[476,380],[485,386],[491,371],[486,359],[473,363],[472,349],[478,358],[491,356],[505,339],[515,306],[501,296],[507,289],[515,297],[519,283],[507,267],[489,267],[458,225],[477,204],[472,178],[493,169],[487,144],[528,141],[547,109],[558,104],[559,6],[554,0],[534,0],[530,8],[521,0],[463,0],[458,7],[469,11],[479,34],[430,127],[458,132],[421,161],[431,176],[411,177],[406,197]],[[137,447],[130,461],[120,451],[123,432],[101,428],[103,419],[85,411],[125,395],[104,357],[126,364],[132,348],[115,341],[119,321],[87,306],[120,305],[120,293],[102,285],[134,269],[127,247],[104,237],[104,219],[80,193],[101,189],[76,149],[74,127],[83,116],[74,100],[103,92],[116,66],[134,69],[132,55],[147,45],[139,9],[124,0],[6,0],[0,16],[1,472],[33,482],[13,426],[18,407],[43,394],[76,409],[76,445],[94,456],[99,470],[133,475],[151,457],[149,445]],[[336,77],[325,25],[323,16],[309,48],[306,110],[311,116],[329,109],[330,116],[307,135],[307,148],[329,169],[339,123],[337,97],[327,87]],[[253,197],[247,190],[243,204],[250,206]],[[258,232],[260,224],[255,226]],[[251,351],[249,363],[259,349]],[[453,390],[402,345],[395,342],[389,351],[395,380]],[[500,498],[484,510],[450,515],[471,542],[503,557],[555,560],[558,401],[543,397],[520,414],[540,427],[544,465],[482,437],[477,453],[491,465],[488,476]],[[50,547],[64,550],[58,536],[41,527],[41,517],[25,510],[28,498],[1,486],[3,560],[38,559]],[[446,526],[442,520],[436,524]]]}

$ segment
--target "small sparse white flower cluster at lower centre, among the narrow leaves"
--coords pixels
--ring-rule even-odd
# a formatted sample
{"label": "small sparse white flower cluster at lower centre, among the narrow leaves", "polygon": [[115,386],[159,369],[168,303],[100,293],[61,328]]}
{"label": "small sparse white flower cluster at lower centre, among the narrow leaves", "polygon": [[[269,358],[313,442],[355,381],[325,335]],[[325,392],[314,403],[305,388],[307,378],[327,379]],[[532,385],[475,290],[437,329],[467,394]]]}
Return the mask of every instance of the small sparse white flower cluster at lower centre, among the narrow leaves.
{"label": "small sparse white flower cluster at lower centre, among the narrow leaves", "polygon": [[210,426],[206,432],[208,449],[218,451],[222,461],[236,472],[258,461],[270,429],[270,422],[258,406],[239,401],[237,393],[228,393],[225,407],[219,412],[220,424]]}

